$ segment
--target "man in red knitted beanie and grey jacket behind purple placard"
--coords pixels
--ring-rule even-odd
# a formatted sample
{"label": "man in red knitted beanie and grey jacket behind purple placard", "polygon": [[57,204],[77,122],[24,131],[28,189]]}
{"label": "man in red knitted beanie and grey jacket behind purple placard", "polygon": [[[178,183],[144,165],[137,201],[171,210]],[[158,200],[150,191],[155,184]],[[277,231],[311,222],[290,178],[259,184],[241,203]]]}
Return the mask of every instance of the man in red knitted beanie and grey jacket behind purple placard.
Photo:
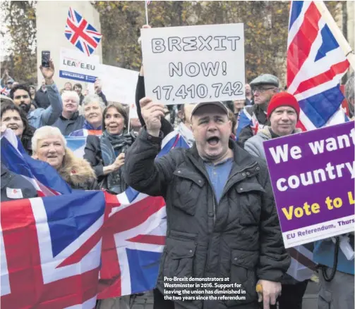
{"label": "man in red knitted beanie and grey jacket behind purple placard", "polygon": [[[291,94],[281,92],[272,96],[267,106],[267,119],[271,125],[263,127],[263,130],[248,139],[244,149],[266,160],[263,141],[301,132],[301,129],[296,129],[299,111],[299,103]],[[277,300],[279,309],[301,309],[308,281],[299,282],[290,275],[284,275],[281,283],[282,294]]]}

